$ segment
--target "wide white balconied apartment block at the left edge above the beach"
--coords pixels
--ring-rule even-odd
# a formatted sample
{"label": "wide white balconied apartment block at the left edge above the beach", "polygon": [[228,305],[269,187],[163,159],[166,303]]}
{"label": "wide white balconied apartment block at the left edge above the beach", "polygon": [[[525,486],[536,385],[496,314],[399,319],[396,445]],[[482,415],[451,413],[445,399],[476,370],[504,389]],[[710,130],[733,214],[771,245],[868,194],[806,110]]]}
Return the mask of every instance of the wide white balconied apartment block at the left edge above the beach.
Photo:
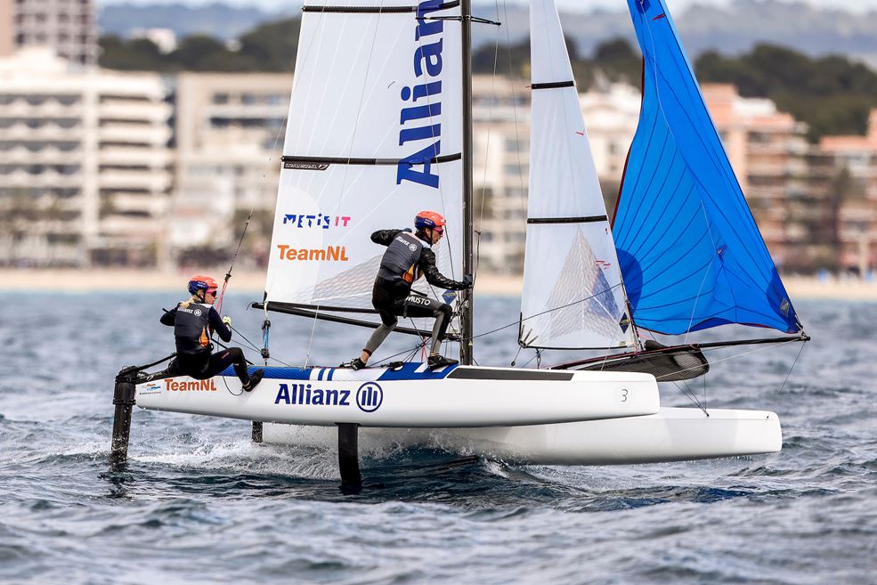
{"label": "wide white balconied apartment block at the left edge above the beach", "polygon": [[0,59],[0,262],[154,264],[172,176],[156,74],[70,69],[48,48]]}

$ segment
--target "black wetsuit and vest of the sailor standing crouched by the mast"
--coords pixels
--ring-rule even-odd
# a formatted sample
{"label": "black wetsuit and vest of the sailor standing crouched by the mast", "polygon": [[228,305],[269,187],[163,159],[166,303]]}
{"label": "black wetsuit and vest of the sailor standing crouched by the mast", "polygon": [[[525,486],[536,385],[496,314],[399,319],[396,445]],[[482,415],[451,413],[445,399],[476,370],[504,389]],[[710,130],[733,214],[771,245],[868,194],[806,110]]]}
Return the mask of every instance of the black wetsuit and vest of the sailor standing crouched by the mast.
{"label": "black wetsuit and vest of the sailor standing crouched by the mast", "polygon": [[411,285],[421,275],[439,288],[463,290],[467,284],[443,276],[435,266],[433,250],[411,232],[378,230],[371,234],[371,241],[387,247],[371,293],[371,304],[378,309],[381,322],[394,328],[396,317],[435,317],[441,321],[436,340],[443,339],[451,323],[451,305],[412,293]]}

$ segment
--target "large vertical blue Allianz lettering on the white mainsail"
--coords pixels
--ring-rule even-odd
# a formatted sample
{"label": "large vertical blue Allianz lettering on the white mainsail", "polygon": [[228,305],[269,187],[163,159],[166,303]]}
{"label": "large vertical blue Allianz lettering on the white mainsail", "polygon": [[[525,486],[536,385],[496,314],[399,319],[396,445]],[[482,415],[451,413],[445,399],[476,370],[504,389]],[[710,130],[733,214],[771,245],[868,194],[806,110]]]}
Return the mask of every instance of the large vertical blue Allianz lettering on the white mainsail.
{"label": "large vertical blue Allianz lettering on the white mainsail", "polygon": [[[396,184],[402,181],[420,183],[438,189],[439,176],[430,172],[432,159],[442,151],[442,33],[443,20],[427,15],[441,10],[443,0],[424,0],[418,4],[414,40],[414,75],[418,85],[402,87],[402,110],[399,112],[399,146],[411,143],[417,149],[402,158],[396,169]],[[426,143],[426,145],[424,145]],[[423,167],[422,171],[414,167]]]}

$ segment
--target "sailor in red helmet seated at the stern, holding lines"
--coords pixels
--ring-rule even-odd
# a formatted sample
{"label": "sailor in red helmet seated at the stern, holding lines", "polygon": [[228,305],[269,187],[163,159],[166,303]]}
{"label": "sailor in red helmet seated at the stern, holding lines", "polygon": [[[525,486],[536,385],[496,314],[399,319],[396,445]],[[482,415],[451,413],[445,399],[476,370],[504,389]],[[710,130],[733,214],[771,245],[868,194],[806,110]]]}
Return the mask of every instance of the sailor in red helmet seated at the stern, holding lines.
{"label": "sailor in red helmet seated at the stern, holding lines", "polygon": [[176,337],[176,370],[197,380],[213,378],[234,364],[234,372],[240,378],[245,392],[251,392],[262,379],[263,370],[250,376],[247,360],[240,347],[229,347],[222,352],[211,353],[213,331],[224,342],[231,341],[231,317],[220,319],[213,304],[216,300],[216,281],[209,276],[193,276],[189,280],[191,298],[161,315],[160,321],[174,327]]}

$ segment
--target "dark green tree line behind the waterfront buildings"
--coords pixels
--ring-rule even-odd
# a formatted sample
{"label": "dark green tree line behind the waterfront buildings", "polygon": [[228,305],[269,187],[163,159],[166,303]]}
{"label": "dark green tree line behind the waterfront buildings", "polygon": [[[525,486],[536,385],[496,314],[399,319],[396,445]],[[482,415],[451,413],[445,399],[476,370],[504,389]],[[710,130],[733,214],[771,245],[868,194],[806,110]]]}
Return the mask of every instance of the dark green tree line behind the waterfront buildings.
{"label": "dark green tree line behind the waterfront buildings", "polygon": [[[301,20],[288,19],[254,28],[234,46],[214,37],[185,37],[171,53],[145,38],[101,37],[101,65],[108,69],[150,71],[291,71],[295,66]],[[639,85],[642,58],[624,39],[597,45],[584,56],[567,39],[572,71],[580,90],[600,79]],[[476,73],[530,77],[530,43],[483,45],[472,56]],[[701,82],[735,84],[744,97],[766,97],[809,126],[809,138],[825,134],[865,134],[868,112],[877,107],[877,73],[840,55],[809,57],[787,47],[758,45],[750,53],[703,53],[694,69]]]}

